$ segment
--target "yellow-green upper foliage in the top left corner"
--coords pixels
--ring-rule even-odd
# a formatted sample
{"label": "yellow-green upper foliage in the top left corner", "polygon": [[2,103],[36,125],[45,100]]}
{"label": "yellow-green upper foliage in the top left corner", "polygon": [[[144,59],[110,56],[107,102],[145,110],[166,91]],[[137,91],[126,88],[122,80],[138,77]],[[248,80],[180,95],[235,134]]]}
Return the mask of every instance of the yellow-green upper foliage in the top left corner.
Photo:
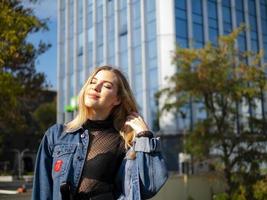
{"label": "yellow-green upper foliage in the top left corner", "polygon": [[0,69],[16,69],[20,63],[27,62],[36,51],[46,49],[40,43],[38,50],[25,39],[30,33],[47,30],[46,20],[34,16],[31,9],[25,9],[20,1],[2,0],[0,2]]}

